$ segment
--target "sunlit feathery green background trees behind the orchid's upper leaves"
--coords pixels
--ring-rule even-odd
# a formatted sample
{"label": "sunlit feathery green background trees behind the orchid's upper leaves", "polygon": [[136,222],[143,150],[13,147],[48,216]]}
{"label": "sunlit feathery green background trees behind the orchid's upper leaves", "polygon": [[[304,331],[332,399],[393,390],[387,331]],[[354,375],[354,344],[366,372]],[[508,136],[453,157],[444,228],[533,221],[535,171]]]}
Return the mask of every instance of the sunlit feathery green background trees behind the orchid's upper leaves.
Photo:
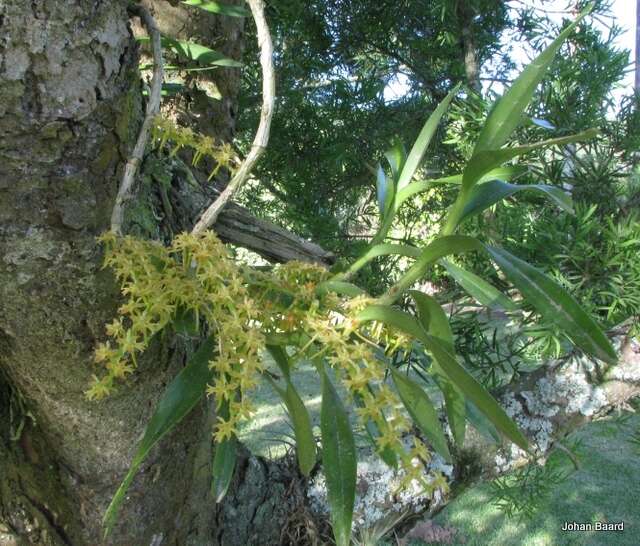
{"label": "sunlit feathery green background trees behind the orchid's upper leaves", "polygon": [[[357,255],[376,230],[373,170],[385,145],[412,142],[426,113],[462,81],[463,98],[454,102],[446,129],[434,139],[423,176],[460,172],[514,68],[558,33],[562,18],[547,13],[546,4],[441,0],[425,7],[411,1],[334,1],[303,8],[272,2],[269,16],[281,51],[279,107],[270,154],[259,167],[259,183],[245,193],[245,203],[338,255]],[[564,20],[585,4],[569,3]],[[534,207],[542,200],[531,193],[496,205],[464,230],[489,235],[510,250],[521,245],[524,259],[553,274],[611,327],[632,316],[640,295],[633,215],[640,203],[634,136],[640,134],[640,120],[636,96],[617,105],[612,93],[628,70],[628,52],[615,45],[620,29],[609,2],[596,2],[593,13],[562,46],[528,109],[531,121],[515,135],[516,141],[531,141],[600,129],[596,142],[534,152],[521,160],[526,172],[517,182],[545,181],[570,189],[577,216]],[[521,44],[522,51],[514,44]],[[469,46],[479,70],[475,80],[465,70]],[[255,51],[249,48],[241,138],[251,134],[259,104],[253,59]],[[453,194],[443,186],[416,198],[399,213],[390,238],[423,243],[442,221],[441,211]],[[458,263],[504,286],[492,266],[475,255]],[[404,268],[402,258],[380,258],[360,273],[359,283],[380,293]],[[428,281],[434,289],[463,296],[442,268]],[[534,358],[558,354],[564,347],[561,336],[539,318],[530,317],[537,326],[527,334],[540,343],[518,347],[526,344]],[[460,326],[467,332],[483,330],[479,324]],[[485,334],[490,344],[491,330]]]}

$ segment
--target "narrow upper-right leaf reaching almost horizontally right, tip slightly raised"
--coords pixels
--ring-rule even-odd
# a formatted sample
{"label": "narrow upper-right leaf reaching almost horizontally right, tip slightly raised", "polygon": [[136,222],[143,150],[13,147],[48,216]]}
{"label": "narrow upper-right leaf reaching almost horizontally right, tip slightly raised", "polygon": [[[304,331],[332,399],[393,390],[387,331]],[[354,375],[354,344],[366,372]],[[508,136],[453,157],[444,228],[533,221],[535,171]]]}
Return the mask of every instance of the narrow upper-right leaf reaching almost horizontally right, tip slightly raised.
{"label": "narrow upper-right leaf reaching almost horizontally right, tip slightly raised", "polygon": [[522,146],[514,146],[512,148],[498,148],[495,150],[483,149],[481,151],[477,151],[471,157],[469,163],[467,163],[467,166],[464,169],[464,173],[462,175],[462,188],[465,192],[468,192],[484,175],[514,157],[518,157],[541,148],[564,146],[565,144],[589,140],[594,138],[597,134],[597,129],[587,129],[586,131],[582,131],[575,135],[550,138],[548,140],[524,144]]}

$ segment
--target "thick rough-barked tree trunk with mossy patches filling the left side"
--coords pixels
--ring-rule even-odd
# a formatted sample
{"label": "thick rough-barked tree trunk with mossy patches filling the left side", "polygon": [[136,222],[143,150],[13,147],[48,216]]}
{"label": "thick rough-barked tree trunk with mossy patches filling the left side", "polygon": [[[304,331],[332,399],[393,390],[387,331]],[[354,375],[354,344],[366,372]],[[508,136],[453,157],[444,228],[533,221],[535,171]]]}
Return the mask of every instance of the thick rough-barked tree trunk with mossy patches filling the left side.
{"label": "thick rough-barked tree trunk with mossy patches filling the left side", "polygon": [[[108,228],[142,113],[126,4],[0,2],[3,543],[103,543],[104,509],[158,397],[192,349],[159,341],[118,394],[85,400],[93,347],[119,304],[95,237]],[[230,134],[230,122],[222,123]],[[237,210],[228,222],[238,222]],[[287,244],[295,248],[295,238]],[[316,251],[302,253],[316,259]],[[274,470],[251,459],[233,491],[238,532],[216,529],[232,518],[228,508],[214,517],[208,498],[209,419],[203,404],[152,453],[104,543],[274,543],[288,507],[274,500],[284,478],[268,479]],[[243,478],[261,484],[259,496]],[[258,523],[262,533],[252,538],[249,527]]]}

